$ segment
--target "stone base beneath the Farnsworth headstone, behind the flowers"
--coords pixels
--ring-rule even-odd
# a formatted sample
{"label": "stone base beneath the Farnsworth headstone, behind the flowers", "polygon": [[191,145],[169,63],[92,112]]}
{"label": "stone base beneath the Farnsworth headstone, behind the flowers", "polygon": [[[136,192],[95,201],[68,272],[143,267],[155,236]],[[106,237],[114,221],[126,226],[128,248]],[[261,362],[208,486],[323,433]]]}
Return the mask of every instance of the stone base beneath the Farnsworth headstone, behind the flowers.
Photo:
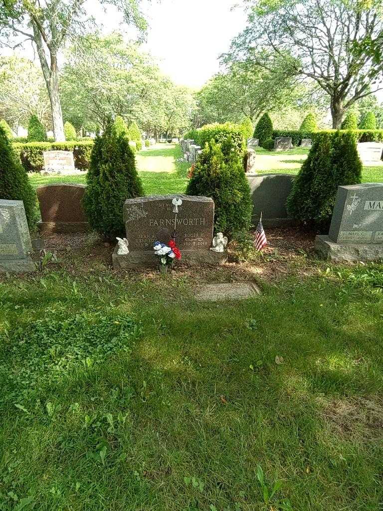
{"label": "stone base beneath the Farnsworth headstone, behind the flowers", "polygon": [[[113,255],[113,268],[115,270],[125,270],[130,268],[157,267],[159,261],[154,250],[142,252],[129,252],[125,255],[118,255],[118,245],[116,245]],[[181,250],[181,263],[188,265],[211,264],[218,266],[227,262],[227,250],[224,252],[213,252],[212,250]]]}

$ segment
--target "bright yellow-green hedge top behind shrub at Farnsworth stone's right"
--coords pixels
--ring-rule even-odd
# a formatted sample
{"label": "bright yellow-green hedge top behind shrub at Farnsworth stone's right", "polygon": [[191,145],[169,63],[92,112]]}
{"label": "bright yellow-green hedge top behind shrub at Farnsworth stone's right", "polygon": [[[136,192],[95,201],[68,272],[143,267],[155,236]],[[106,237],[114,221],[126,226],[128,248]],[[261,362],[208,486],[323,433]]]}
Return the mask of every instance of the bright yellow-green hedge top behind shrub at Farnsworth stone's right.
{"label": "bright yellow-green hedge top behind shrub at Farnsworth stone's right", "polygon": [[184,135],[184,138],[194,140],[202,149],[207,142],[223,143],[230,137],[232,144],[238,155],[244,156],[246,150],[245,136],[241,125],[233,123],[225,124],[206,124],[202,128],[190,130]]}

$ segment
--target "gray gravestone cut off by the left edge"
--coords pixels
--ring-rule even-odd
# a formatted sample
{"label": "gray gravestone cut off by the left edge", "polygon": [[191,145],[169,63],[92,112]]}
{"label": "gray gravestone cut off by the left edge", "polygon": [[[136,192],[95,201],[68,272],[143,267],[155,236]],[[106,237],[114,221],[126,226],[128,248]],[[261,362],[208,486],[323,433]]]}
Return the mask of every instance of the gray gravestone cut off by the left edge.
{"label": "gray gravestone cut off by the left edge", "polygon": [[0,272],[32,272],[32,243],[21,200],[0,200]]}

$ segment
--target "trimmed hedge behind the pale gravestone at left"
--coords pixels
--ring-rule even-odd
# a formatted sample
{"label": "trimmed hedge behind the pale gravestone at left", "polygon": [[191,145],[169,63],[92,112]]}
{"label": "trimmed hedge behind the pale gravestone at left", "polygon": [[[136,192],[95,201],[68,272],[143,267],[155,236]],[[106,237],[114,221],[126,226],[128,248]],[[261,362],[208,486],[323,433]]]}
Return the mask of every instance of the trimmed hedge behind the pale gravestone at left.
{"label": "trimmed hedge behind the pale gravestone at left", "polygon": [[12,143],[13,149],[20,157],[22,166],[27,172],[40,172],[44,167],[44,151],[71,151],[75,159],[75,167],[88,170],[93,141],[83,142],[30,142],[27,144]]}

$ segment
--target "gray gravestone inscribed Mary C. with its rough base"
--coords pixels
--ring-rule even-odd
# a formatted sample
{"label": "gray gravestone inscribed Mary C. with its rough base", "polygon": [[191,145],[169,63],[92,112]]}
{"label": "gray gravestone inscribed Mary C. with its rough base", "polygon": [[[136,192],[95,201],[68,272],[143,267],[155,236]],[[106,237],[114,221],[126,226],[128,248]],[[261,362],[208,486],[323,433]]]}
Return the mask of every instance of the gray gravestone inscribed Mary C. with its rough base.
{"label": "gray gravestone inscribed Mary C. with its rough base", "polygon": [[383,183],[338,188],[328,236],[316,249],[333,261],[383,259]]}

